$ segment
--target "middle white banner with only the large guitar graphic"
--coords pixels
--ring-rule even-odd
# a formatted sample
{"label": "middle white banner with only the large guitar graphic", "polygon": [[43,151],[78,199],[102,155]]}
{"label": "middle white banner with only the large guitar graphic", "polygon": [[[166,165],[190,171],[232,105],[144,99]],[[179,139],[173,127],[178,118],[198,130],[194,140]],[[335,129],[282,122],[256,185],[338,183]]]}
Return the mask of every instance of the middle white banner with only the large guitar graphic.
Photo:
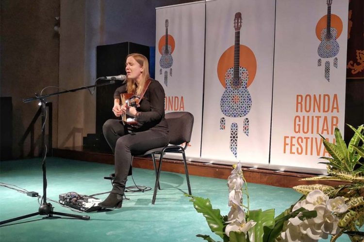
{"label": "middle white banner with only the large guitar graphic", "polygon": [[274,21],[272,0],[206,1],[201,158],[268,166]]}

